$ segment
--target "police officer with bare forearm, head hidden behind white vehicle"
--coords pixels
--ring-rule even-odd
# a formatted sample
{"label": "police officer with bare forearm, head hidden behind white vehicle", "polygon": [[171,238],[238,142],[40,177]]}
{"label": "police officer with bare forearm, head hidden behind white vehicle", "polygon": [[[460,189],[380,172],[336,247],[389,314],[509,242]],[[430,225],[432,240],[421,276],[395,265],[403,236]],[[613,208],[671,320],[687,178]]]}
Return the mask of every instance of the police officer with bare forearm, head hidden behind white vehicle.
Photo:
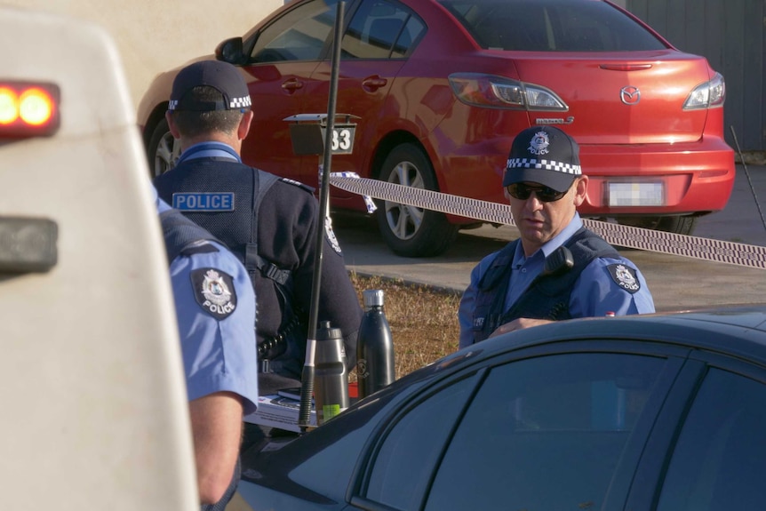
{"label": "police officer with bare forearm, head hidden behind white vehicle", "polygon": [[223,511],[240,478],[243,416],[256,410],[255,295],[242,263],[156,199],[170,264],[203,511]]}

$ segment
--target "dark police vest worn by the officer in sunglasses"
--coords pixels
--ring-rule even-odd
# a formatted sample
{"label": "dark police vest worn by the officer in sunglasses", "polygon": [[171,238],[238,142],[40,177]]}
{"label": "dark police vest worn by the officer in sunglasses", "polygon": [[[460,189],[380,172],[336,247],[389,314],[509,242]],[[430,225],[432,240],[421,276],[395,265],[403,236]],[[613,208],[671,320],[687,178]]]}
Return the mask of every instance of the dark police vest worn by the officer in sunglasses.
{"label": "dark police vest worn by the officer in sunglasses", "polygon": [[[511,263],[519,243],[521,240],[517,239],[507,244],[491,262],[491,266],[478,283],[472,318],[475,343],[487,339],[501,324],[520,317],[553,321],[570,319],[572,286],[585,267],[597,258],[619,258],[614,247],[600,236],[586,228],[580,228],[556,252],[548,256],[546,269],[506,311],[505,300],[511,277]],[[561,257],[563,253],[567,257]],[[549,259],[561,262],[552,266],[548,264]],[[567,260],[570,261],[570,265],[566,264]]]}

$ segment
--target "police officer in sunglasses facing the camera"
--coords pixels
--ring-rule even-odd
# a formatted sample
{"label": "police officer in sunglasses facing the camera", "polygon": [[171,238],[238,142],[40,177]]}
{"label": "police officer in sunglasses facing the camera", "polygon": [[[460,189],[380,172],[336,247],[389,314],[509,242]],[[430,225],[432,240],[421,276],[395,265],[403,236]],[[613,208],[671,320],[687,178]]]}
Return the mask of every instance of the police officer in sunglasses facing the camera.
{"label": "police officer in sunglasses facing the camera", "polygon": [[503,187],[520,237],[471,272],[460,347],[550,321],[654,312],[634,263],[583,227],[587,180],[578,144],[562,130],[533,126],[515,137]]}

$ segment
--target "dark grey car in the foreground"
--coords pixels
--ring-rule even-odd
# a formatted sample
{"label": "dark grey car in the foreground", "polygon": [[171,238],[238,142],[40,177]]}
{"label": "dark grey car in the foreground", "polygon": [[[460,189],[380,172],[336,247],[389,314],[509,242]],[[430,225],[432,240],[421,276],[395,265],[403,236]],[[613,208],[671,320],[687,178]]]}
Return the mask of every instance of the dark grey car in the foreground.
{"label": "dark grey car in the foreground", "polygon": [[239,491],[275,510],[763,509],[764,424],[766,307],[571,320],[253,447]]}

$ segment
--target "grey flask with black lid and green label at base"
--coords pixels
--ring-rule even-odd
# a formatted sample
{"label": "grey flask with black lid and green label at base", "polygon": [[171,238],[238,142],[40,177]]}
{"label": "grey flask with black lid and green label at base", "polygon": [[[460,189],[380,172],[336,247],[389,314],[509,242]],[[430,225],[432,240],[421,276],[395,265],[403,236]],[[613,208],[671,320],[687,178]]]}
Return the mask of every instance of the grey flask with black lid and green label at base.
{"label": "grey flask with black lid and green label at base", "polygon": [[340,329],[331,328],[329,321],[319,323],[316,331],[314,362],[316,424],[321,426],[348,408],[346,347]]}

